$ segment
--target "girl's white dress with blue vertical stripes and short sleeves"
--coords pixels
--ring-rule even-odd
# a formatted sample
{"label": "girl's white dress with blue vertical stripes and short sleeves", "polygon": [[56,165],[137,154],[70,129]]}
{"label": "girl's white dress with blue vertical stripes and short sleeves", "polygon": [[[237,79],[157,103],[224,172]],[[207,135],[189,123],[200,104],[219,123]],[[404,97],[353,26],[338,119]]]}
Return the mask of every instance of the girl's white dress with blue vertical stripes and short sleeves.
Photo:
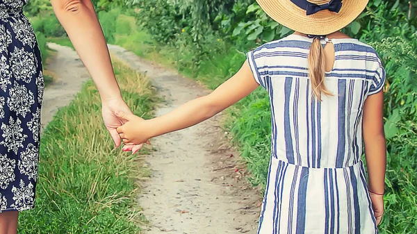
{"label": "girl's white dress with blue vertical stripes and short sleeves", "polygon": [[[382,90],[377,53],[355,39],[333,39],[335,61],[312,95],[307,57],[312,39],[289,35],[247,53],[269,92],[272,156],[258,234],[375,234],[362,155],[362,110]],[[322,44],[325,44],[324,40]]]}

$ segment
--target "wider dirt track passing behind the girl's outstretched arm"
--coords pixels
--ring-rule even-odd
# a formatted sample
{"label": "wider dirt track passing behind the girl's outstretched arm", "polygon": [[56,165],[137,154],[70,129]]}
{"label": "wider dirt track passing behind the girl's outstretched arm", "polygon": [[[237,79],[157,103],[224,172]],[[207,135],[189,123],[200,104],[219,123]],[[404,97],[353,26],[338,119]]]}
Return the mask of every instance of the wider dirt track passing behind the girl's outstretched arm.
{"label": "wider dirt track passing behind the girl's outstretched arm", "polygon": [[[208,93],[195,81],[145,62],[122,47],[109,48],[152,79],[165,99],[156,115]],[[233,149],[221,144],[224,132],[219,118],[152,141],[156,152],[146,160],[152,177],[138,201],[151,223],[148,234],[256,233],[259,194],[245,182],[237,154],[230,157]]]}

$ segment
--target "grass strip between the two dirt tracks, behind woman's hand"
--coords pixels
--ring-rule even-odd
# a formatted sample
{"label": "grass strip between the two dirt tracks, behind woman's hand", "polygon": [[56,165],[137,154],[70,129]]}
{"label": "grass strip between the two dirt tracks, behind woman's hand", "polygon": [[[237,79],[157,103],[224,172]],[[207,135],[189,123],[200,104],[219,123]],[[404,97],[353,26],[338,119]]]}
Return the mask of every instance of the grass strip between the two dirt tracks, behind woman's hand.
{"label": "grass strip between the two dirt tracks, behind woman's hand", "polygon": [[[151,117],[156,101],[146,77],[115,62],[133,112]],[[40,147],[36,208],[22,212],[18,233],[139,233],[141,156],[113,147],[92,81],[47,126]],[[140,151],[142,154],[147,150]]]}

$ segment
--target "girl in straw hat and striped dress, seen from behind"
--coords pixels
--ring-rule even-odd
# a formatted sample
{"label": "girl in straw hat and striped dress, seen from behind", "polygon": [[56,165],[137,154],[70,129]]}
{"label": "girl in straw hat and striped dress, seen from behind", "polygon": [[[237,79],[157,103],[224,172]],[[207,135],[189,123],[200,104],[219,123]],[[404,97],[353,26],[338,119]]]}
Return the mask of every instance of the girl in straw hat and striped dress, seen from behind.
{"label": "girl in straw hat and striped dress, seen from behind", "polygon": [[272,155],[258,233],[378,233],[385,72],[373,48],[339,31],[368,1],[258,2],[295,33],[250,51],[228,81],[167,115],[142,120],[120,112],[127,120],[120,137],[140,144],[193,126],[261,85],[270,96]]}

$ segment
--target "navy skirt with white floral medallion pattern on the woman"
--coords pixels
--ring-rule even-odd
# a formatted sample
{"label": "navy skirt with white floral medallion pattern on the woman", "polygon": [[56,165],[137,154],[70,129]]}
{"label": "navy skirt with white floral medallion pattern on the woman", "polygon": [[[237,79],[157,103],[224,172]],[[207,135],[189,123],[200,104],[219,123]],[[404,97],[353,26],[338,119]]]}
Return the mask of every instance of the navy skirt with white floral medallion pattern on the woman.
{"label": "navy skirt with white floral medallion pattern on the woman", "polygon": [[26,1],[0,0],[0,212],[33,208],[38,181],[44,80]]}

